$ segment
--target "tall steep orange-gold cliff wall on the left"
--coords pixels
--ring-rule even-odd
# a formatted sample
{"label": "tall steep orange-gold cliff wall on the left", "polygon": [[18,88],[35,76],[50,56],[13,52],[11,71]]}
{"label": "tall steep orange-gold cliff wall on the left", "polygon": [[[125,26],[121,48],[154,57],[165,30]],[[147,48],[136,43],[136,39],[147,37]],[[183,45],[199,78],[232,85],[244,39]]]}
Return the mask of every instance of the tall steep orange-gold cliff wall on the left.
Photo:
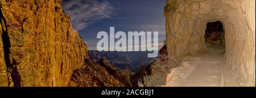
{"label": "tall steep orange-gold cliff wall on the left", "polygon": [[[60,3],[0,1],[0,86],[68,86],[74,70],[100,67],[88,60],[87,47]],[[118,82],[104,68],[93,71],[105,73],[96,76],[99,81]]]}

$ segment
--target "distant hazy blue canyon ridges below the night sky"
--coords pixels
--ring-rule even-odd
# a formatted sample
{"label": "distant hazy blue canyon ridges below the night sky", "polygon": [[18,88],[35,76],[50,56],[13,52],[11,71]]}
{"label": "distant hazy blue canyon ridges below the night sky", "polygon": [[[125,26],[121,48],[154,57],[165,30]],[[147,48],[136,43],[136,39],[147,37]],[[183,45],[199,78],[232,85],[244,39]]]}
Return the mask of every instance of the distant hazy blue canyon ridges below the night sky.
{"label": "distant hazy blue canyon ridges below the night sky", "polygon": [[106,59],[110,64],[119,70],[129,69],[131,72],[137,73],[141,66],[149,65],[155,58],[147,57],[147,51],[88,51],[89,58],[93,61]]}

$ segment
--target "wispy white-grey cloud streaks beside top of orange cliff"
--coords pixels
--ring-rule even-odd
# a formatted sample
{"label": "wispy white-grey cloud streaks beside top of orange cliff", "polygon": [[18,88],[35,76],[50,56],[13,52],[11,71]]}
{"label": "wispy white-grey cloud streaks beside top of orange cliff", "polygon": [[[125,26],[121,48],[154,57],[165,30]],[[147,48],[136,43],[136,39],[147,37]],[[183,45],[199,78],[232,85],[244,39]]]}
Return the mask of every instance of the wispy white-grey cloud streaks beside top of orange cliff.
{"label": "wispy white-grey cloud streaks beside top of orange cliff", "polygon": [[76,30],[82,30],[102,19],[111,18],[116,12],[109,2],[95,0],[65,0],[63,9],[71,16],[73,28]]}

